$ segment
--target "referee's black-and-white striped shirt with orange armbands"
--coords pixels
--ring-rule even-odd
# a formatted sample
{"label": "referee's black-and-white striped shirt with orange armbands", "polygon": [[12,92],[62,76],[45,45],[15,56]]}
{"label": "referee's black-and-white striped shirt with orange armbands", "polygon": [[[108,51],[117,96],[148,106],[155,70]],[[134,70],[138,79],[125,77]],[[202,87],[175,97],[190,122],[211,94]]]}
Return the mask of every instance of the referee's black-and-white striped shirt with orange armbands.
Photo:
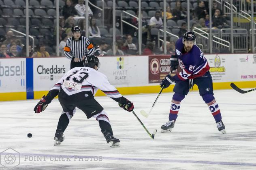
{"label": "referee's black-and-white striped shirt with orange armbands", "polygon": [[94,54],[94,46],[87,37],[81,36],[78,41],[75,41],[74,37],[69,37],[64,47],[64,54],[70,60],[79,58],[81,61],[83,56]]}

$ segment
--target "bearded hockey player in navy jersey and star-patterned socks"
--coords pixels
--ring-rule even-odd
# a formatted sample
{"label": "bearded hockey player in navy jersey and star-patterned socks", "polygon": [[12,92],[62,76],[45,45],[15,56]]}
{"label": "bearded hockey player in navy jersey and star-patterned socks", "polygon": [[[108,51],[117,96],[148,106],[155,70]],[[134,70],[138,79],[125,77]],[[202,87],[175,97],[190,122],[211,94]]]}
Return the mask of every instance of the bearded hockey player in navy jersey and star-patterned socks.
{"label": "bearded hockey player in navy jersey and star-patterned socks", "polygon": [[161,82],[163,88],[169,87],[175,82],[173,99],[169,114],[169,122],[161,126],[161,132],[171,132],[178,116],[180,103],[188,94],[194,84],[198,86],[199,93],[210,109],[217,128],[223,134],[226,133],[220,114],[220,108],[213,96],[213,83],[209,72],[210,66],[203,52],[196,46],[196,35],[192,31],[184,33],[183,38],[176,42],[176,55],[171,56],[171,68],[175,70],[178,65],[181,72],[175,76],[167,75]]}

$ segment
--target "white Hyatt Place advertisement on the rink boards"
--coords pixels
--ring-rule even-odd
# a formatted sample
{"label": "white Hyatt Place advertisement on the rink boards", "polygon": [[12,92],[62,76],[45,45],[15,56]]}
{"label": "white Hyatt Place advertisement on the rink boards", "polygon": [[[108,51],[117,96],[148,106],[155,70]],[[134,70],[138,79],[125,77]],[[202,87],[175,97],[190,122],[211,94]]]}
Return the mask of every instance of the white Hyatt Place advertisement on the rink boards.
{"label": "white Hyatt Place advertisement on the rink boards", "polygon": [[115,87],[148,84],[148,56],[99,57],[99,71]]}

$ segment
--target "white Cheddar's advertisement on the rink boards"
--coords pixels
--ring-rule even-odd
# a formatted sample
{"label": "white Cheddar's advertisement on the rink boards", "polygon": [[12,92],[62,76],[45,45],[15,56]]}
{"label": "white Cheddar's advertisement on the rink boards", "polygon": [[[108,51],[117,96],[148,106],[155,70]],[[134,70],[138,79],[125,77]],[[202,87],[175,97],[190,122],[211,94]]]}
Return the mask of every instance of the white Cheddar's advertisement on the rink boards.
{"label": "white Cheddar's advertisement on the rink boards", "polygon": [[34,58],[34,91],[47,91],[70,70],[67,58]]}

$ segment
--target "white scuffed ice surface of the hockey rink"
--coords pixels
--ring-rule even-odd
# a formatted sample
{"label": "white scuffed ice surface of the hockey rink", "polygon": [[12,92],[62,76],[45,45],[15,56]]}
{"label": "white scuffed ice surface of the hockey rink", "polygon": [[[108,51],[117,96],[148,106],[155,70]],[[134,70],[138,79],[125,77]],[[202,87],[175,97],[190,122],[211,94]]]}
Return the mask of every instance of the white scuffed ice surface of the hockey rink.
{"label": "white scuffed ice surface of the hockey rink", "polygon": [[[46,95],[46,94],[45,94]],[[182,101],[171,133],[160,133],[168,121],[173,93],[162,93],[148,118],[157,94],[126,95],[134,111],[152,133],[152,140],[132,113],[119,108],[109,97],[96,97],[109,115],[119,148],[111,148],[100,132],[98,122],[87,120],[77,110],[60,146],[53,137],[62,108],[53,100],[44,112],[34,114],[38,100],[0,102],[0,152],[11,147],[20,164],[14,169],[36,170],[255,170],[256,169],[256,92],[240,94],[234,90],[215,91],[222,120],[223,135],[198,91]],[[32,138],[27,134],[32,133]],[[1,164],[3,153],[1,153]],[[20,158],[18,159],[18,157]],[[10,163],[10,162],[9,162]],[[6,164],[9,168],[10,164]],[[0,169],[4,168],[0,165]]]}

